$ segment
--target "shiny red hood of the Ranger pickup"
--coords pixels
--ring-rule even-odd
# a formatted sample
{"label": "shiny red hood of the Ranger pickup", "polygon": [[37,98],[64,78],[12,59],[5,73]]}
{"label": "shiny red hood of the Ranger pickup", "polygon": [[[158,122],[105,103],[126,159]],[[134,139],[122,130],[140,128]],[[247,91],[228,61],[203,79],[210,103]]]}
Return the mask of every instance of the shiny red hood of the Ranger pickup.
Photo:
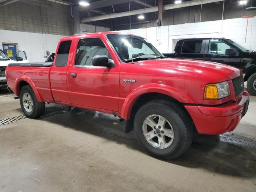
{"label": "shiny red hood of the Ranger pickup", "polygon": [[[238,68],[216,62],[188,59],[156,59],[135,64],[154,69],[153,74],[180,78],[207,78],[211,83],[231,80],[242,75]],[[147,71],[148,71],[147,70]],[[150,72],[152,73],[152,72]]]}

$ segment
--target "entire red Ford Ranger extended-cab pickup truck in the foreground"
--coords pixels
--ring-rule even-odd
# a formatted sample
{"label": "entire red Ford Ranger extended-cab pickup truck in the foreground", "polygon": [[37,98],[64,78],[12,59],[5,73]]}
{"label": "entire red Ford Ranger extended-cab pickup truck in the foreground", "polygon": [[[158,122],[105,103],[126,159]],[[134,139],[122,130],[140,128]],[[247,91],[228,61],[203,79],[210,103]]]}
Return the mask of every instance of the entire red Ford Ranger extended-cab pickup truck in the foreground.
{"label": "entire red Ford Ranger extended-cab pickup truck in the foreground", "polygon": [[9,64],[9,89],[28,118],[45,102],[115,114],[149,154],[172,159],[199,134],[232,131],[247,111],[242,72],[168,59],[146,39],[115,32],[62,38],[54,62]]}

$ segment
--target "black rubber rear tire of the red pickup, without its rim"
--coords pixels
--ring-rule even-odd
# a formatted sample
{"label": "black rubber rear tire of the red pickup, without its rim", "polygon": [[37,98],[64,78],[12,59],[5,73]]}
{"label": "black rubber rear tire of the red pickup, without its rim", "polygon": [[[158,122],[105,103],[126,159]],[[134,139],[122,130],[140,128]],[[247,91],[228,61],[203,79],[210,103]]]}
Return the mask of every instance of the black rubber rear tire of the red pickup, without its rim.
{"label": "black rubber rear tire of the red pickup, without its rim", "polygon": [[[32,111],[29,112],[25,109],[24,104],[23,104],[23,95],[28,94],[31,97],[33,106],[32,106]],[[34,91],[29,85],[26,85],[22,87],[20,90],[20,106],[22,108],[22,111],[28,118],[38,118],[44,114],[45,110],[45,102],[38,102],[36,99],[36,95],[34,94]]]}

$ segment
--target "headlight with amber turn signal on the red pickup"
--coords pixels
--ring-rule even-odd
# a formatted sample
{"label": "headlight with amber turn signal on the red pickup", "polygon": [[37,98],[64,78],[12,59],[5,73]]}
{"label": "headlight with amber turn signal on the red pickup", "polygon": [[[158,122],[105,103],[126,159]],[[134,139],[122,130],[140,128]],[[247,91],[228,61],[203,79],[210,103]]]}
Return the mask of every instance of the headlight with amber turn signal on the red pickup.
{"label": "headlight with amber turn signal on the red pickup", "polygon": [[204,99],[221,99],[230,96],[228,82],[208,84],[205,87]]}

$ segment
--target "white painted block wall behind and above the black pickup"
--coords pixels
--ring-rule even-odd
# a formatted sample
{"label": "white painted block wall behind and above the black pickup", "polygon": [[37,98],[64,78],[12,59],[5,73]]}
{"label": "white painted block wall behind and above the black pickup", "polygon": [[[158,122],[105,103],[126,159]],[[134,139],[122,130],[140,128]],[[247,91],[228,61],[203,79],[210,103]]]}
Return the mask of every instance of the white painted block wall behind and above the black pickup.
{"label": "white painted block wall behind and above the black pickup", "polygon": [[[186,23],[161,27],[132,29],[131,33],[142,36],[150,41],[160,52],[172,53],[176,42],[182,38],[224,37],[256,50],[256,17],[249,18],[247,36],[246,18]],[[118,31],[130,33],[130,30]]]}

